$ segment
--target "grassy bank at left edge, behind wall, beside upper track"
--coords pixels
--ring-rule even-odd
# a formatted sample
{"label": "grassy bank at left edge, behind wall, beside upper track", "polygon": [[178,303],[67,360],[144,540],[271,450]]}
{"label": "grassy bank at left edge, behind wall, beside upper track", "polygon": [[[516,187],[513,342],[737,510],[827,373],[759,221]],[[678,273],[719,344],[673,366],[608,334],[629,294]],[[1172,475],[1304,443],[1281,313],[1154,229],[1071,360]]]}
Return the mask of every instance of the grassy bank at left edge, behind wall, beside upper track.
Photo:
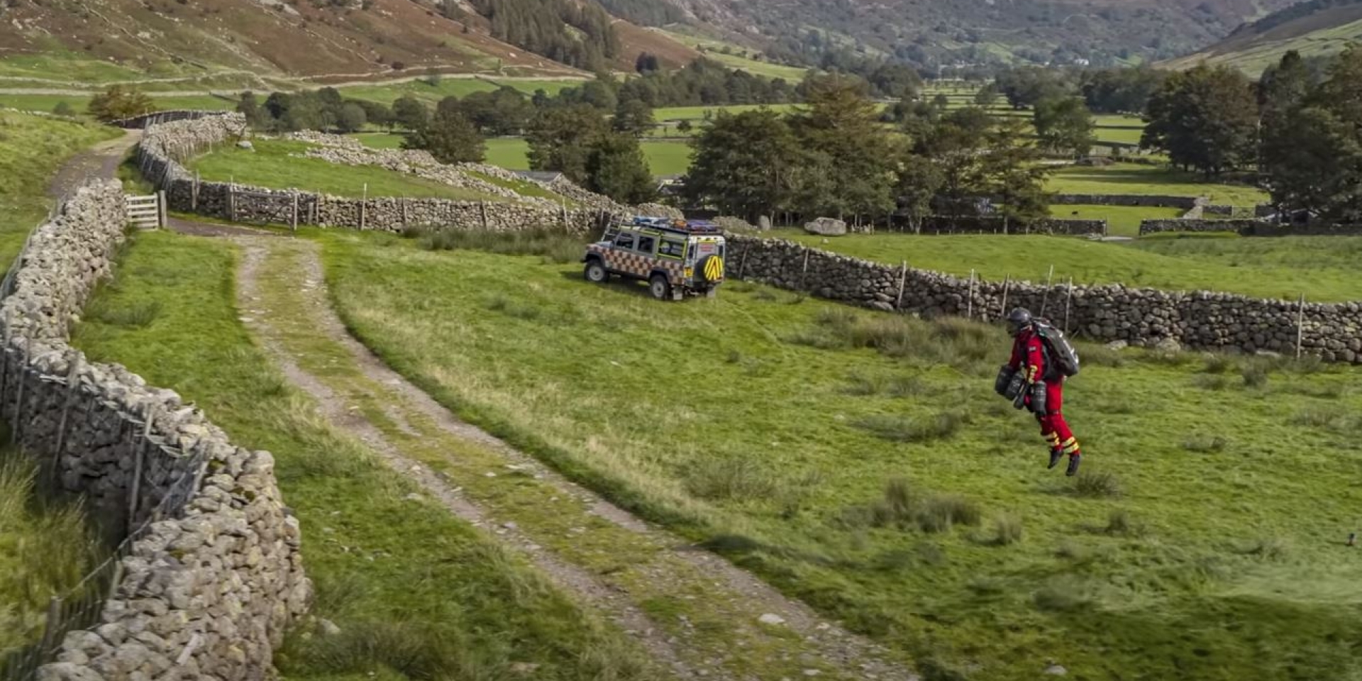
{"label": "grassy bank at left edge, behind wall, beside upper track", "polygon": [[118,131],[42,116],[0,113],[0,268],[48,212],[48,181],[61,163]]}

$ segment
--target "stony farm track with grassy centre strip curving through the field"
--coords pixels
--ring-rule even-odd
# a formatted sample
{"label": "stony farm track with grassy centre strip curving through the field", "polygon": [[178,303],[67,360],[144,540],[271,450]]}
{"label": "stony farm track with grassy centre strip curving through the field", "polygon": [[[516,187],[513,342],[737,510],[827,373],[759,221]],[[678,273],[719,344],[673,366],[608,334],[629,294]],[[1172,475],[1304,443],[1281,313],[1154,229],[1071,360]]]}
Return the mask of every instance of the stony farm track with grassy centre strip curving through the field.
{"label": "stony farm track with grassy centre strip curving through the field", "polygon": [[[365,441],[390,466],[417,481],[451,512],[520,552],[560,587],[617,622],[677,678],[778,681],[801,674],[847,680],[918,678],[880,646],[824,621],[810,607],[786,598],[749,572],[640,520],[567,481],[537,459],[456,418],[347,332],[331,308],[316,242],[240,236],[233,237],[233,241],[245,253],[237,278],[242,319],[248,320],[248,327],[262,339],[287,379],[312,395],[332,424]],[[293,249],[289,255],[298,262],[290,267],[276,267],[272,275],[286,271],[296,278],[283,287],[298,291],[305,298],[305,316],[309,319],[301,323],[306,324],[308,332],[345,349],[342,361],[353,362],[353,368],[362,375],[361,384],[340,385],[336,390],[334,380],[301,366],[304,362],[298,347],[290,347],[286,334],[281,332],[281,324],[298,324],[300,320],[291,317],[300,315],[294,311],[290,319],[274,317],[268,298],[275,293],[262,285],[262,271],[272,249]],[[355,390],[373,392],[366,396],[379,406],[381,418],[388,421],[388,429],[377,426],[373,415],[365,415],[364,410],[354,407]],[[646,577],[647,586],[631,588],[629,583],[582,565],[580,556],[549,546],[553,543],[552,537],[543,537],[533,523],[526,523],[504,507],[489,508],[481,500],[471,498],[473,494],[464,488],[475,488],[477,477],[452,479],[449,474],[436,471],[418,460],[418,456],[410,455],[405,449],[411,448],[411,440],[405,434],[421,430],[419,424],[433,424],[421,437],[426,440],[425,445],[436,447],[444,456],[458,456],[459,447],[478,447],[497,458],[503,469],[518,471],[543,485],[545,503],[580,503],[586,516],[603,520],[601,524],[606,527],[597,530],[588,524],[575,528],[583,533],[584,541],[591,533],[613,531],[628,535],[625,541],[631,543],[654,548],[655,556],[644,560],[646,564],[631,565],[631,569]],[[492,473],[488,475],[494,477]],[[718,620],[726,622],[731,632],[719,636],[723,640],[716,643],[715,636],[707,636],[685,621],[685,617],[681,617],[681,624],[658,620],[644,612],[644,603],[650,595],[659,592],[704,594],[682,598],[699,598],[700,609],[718,609]]]}

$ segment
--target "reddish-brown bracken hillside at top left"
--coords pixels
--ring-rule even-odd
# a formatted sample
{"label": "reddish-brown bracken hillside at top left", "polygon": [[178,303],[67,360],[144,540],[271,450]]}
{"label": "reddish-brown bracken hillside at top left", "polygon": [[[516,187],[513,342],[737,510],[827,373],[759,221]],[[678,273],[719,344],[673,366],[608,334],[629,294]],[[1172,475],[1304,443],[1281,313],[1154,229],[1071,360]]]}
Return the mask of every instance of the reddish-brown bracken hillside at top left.
{"label": "reddish-brown bracken hillside at top left", "polygon": [[[640,52],[671,65],[697,56],[662,34],[610,22],[622,48],[610,63],[614,68],[632,69]],[[168,76],[241,71],[316,80],[426,69],[590,75],[490,34],[490,22],[463,0],[5,0],[0,74],[71,78],[52,64],[104,63],[108,68],[83,71]],[[27,72],[25,64],[31,67]]]}

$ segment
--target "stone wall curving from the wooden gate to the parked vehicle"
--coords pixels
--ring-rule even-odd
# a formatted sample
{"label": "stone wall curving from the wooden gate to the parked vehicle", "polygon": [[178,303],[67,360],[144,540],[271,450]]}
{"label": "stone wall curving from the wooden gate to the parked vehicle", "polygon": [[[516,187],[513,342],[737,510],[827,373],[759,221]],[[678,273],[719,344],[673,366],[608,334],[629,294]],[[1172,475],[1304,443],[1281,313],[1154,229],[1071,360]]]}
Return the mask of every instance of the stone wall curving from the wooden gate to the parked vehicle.
{"label": "stone wall curving from the wooden gate to the parked vehicle", "polygon": [[[183,162],[195,154],[240,139],[245,133],[245,117],[236,113],[154,124],[147,127],[138,147],[138,163],[143,176],[166,192],[170,210],[232,222],[317,225],[383,232],[437,226],[497,232],[565,227],[586,233],[598,229],[612,211],[622,208],[599,203],[591,207],[580,202],[577,206],[567,207],[542,199],[505,202],[351,199],[229,183],[203,183],[184,168]],[[358,162],[360,158],[355,157],[354,161]],[[395,159],[392,162],[395,168],[400,165]],[[553,188],[560,193],[567,191],[560,189]],[[575,199],[571,195],[568,197]]]}

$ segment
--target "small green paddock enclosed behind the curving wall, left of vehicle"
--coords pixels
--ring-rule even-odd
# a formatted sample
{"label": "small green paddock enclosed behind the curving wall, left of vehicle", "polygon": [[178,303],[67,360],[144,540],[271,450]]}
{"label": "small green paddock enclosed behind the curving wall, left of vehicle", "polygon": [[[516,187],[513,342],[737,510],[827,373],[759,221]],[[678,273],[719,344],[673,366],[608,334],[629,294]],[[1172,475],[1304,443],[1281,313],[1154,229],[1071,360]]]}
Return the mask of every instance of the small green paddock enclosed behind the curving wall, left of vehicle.
{"label": "small green paddock enclosed behind the curving wall, left of vehicle", "polygon": [[[300,158],[309,144],[286,140],[255,140],[255,150],[222,146],[189,163],[204,180],[271,189],[306,189],[335,196],[409,196],[454,200],[501,200],[498,196],[451,187],[413,174],[376,166],[345,166],[320,158]],[[365,189],[368,185],[368,189]]]}

